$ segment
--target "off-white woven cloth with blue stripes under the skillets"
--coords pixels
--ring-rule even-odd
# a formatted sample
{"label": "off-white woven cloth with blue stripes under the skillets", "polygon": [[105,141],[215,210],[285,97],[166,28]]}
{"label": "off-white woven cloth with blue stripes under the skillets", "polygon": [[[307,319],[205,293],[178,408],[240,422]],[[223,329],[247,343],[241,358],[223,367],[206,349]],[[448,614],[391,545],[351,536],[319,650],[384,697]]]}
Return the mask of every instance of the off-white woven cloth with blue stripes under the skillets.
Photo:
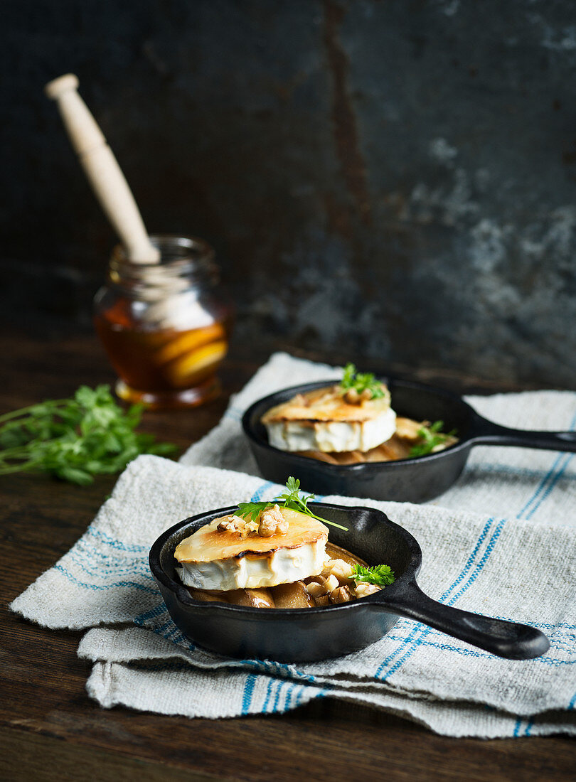
{"label": "off-white woven cloth with blue stripes under the skillets", "polygon": [[[463,477],[437,500],[442,508],[324,498],[381,508],[423,547],[419,583],[431,597],[544,630],[551,648],[541,658],[504,661],[401,619],[382,640],[344,658],[298,666],[234,661],[194,647],[171,622],[149,573],[150,544],[181,518],[275,497],[280,487],[255,477],[239,426],[243,410],[276,389],[339,376],[335,368],[273,356],[181,465],[151,456],[128,465],[85,535],[11,608],[44,626],[97,628],[79,654],[95,662],[88,692],[107,707],[223,717],[285,712],[329,697],[386,708],[452,736],[576,733],[571,454],[478,447]],[[469,401],[509,426],[574,427],[574,393]],[[131,626],[98,627],[118,622]]]}

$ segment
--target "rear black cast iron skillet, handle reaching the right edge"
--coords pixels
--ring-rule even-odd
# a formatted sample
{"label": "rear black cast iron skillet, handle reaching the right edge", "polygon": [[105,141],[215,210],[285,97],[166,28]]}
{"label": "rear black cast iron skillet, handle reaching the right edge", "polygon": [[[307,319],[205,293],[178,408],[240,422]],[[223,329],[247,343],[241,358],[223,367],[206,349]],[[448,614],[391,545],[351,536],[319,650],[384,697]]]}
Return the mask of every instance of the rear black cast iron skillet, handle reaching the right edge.
{"label": "rear black cast iron skillet, handle reaching the right edge", "polygon": [[380,378],[391,391],[392,407],[398,415],[416,421],[445,423],[445,431],[457,430],[459,442],[437,454],[417,459],[369,462],[362,465],[329,465],[306,456],[279,450],[268,444],[260,419],[276,404],[297,393],[334,380],[306,383],[283,389],[258,400],[243,415],[242,426],[262,475],[283,484],[289,475],[301,480],[304,490],[316,494],[343,494],[372,497],[373,500],[426,502],[445,492],[463,471],[470,448],[475,445],[513,445],[525,448],[576,451],[576,432],[527,432],[507,429],[482,418],[469,404],[453,393],[423,383]]}

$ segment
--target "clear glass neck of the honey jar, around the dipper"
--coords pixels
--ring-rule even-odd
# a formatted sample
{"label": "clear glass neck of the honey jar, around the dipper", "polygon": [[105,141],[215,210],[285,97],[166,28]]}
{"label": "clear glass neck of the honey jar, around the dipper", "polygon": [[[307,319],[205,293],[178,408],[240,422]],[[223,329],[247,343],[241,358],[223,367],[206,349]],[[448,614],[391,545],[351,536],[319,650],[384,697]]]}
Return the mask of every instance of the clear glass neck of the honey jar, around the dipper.
{"label": "clear glass neck of the honey jar, around the dipper", "polygon": [[[202,239],[182,236],[150,236],[150,242],[160,250],[155,263],[136,263],[130,260],[124,247],[114,247],[108,266],[108,282],[146,298],[165,296],[169,292],[187,288],[211,288],[219,282],[214,250]],[[155,296],[154,296],[155,297]]]}

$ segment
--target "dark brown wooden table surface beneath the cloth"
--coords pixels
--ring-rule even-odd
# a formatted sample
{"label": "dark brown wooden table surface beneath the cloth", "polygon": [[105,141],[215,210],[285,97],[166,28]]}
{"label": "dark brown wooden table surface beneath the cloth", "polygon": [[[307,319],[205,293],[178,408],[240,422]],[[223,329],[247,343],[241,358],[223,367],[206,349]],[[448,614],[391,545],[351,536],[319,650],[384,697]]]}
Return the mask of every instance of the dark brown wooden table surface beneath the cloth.
{"label": "dark brown wooden table surface beneath the cloth", "polygon": [[[0,412],[68,396],[81,383],[113,382],[89,336],[0,335],[0,348]],[[230,359],[219,400],[196,411],[146,414],[142,429],[185,447],[217,423],[227,395],[256,366]],[[489,388],[457,375],[432,379],[459,390]],[[79,487],[41,475],[0,479],[2,780],[574,780],[576,744],[566,737],[445,738],[337,701],[219,721],[99,708],[85,692],[88,662],[76,656],[81,633],[44,630],[6,605],[70,549],[114,481]]]}

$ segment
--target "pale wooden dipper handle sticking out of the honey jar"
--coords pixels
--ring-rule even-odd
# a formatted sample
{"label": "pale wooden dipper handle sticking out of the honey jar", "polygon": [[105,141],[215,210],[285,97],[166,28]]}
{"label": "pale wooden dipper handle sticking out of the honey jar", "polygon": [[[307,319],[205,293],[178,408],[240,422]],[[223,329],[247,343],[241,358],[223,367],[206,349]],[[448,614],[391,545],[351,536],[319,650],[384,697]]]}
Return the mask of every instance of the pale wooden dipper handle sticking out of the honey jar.
{"label": "pale wooden dipper handle sticking out of the honey jar", "polygon": [[157,262],[160,253],[149,240],[128,182],[77,88],[77,77],[66,74],[46,84],[45,94],[58,104],[74,151],[128,257],[134,263]]}

